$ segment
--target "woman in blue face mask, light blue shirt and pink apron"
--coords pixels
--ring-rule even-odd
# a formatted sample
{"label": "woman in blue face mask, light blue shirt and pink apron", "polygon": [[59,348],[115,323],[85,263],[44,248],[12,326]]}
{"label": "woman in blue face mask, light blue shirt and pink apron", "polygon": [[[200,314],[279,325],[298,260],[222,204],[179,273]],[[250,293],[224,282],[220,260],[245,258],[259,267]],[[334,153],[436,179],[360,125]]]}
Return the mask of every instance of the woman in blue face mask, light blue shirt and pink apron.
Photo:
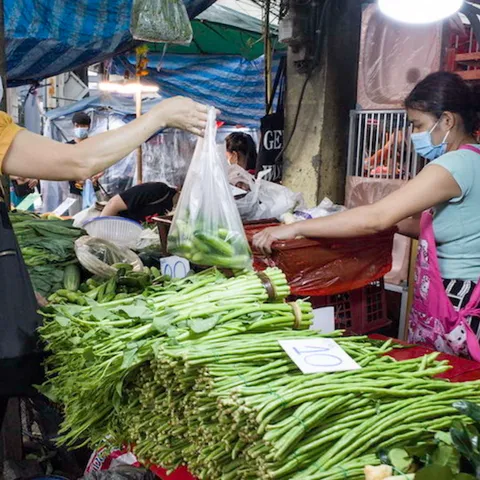
{"label": "woman in blue face mask, light blue shirt and pink apron", "polygon": [[[405,100],[412,142],[429,164],[372,205],[276,228],[254,237],[271,252],[276,240],[359,237],[398,225],[419,238],[409,340],[480,361],[480,93],[461,77],[437,72]],[[478,87],[477,87],[478,88]],[[419,218],[420,217],[420,218]]]}

